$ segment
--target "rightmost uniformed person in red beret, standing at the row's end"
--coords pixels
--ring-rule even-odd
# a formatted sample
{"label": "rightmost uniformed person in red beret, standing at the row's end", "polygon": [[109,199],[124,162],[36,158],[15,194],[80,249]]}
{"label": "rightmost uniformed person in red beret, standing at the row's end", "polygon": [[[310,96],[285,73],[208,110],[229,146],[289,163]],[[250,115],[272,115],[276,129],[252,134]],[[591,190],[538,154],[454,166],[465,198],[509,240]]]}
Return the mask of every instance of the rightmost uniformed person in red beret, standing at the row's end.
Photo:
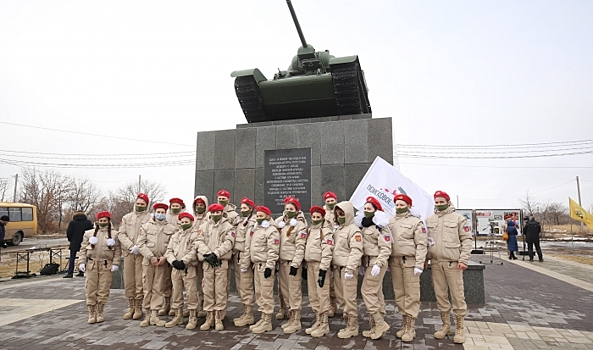
{"label": "rightmost uniformed person in red beret, standing at the row's end", "polygon": [[467,219],[455,212],[450,197],[443,191],[434,194],[435,214],[426,220],[428,235],[434,245],[428,250],[431,260],[432,284],[441,311],[443,326],[434,333],[436,339],[444,339],[451,332],[451,292],[455,314],[455,337],[453,342],[465,342],[463,319],[467,305],[463,293],[463,271],[467,269],[472,250],[472,234]]}

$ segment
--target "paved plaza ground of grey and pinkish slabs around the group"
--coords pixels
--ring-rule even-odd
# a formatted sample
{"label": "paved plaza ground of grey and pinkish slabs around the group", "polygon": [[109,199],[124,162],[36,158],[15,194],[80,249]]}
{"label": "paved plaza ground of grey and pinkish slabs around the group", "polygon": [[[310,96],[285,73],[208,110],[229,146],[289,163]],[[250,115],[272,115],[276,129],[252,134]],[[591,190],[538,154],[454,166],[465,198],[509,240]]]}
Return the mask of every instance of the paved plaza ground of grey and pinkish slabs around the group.
{"label": "paved plaza ground of grey and pinkish slabs around the group", "polygon": [[[122,290],[112,290],[106,307],[106,322],[87,325],[84,279],[61,276],[0,283],[0,330],[2,349],[593,349],[593,291],[588,282],[591,269],[553,259],[529,263],[483,256],[486,305],[470,307],[466,319],[466,343],[437,341],[432,333],[440,326],[434,303],[423,303],[417,321],[417,338],[402,344],[395,338],[401,326],[393,302],[387,309],[392,330],[381,340],[362,336],[342,340],[336,334],[341,318],[331,321],[331,333],[314,339],[304,331],[285,335],[274,320],[274,330],[254,336],[236,328],[231,319],[241,313],[238,297],[230,297],[226,330],[222,332],[184,328],[140,328],[138,321],[124,321],[127,302]],[[503,263],[502,265],[500,263]],[[560,269],[561,273],[557,272]],[[570,272],[568,272],[570,269]],[[562,278],[558,278],[562,277]],[[566,279],[571,279],[566,281]],[[579,284],[580,285],[577,285]],[[306,304],[306,300],[304,302]],[[361,303],[360,330],[368,328]],[[303,309],[303,326],[314,314]],[[200,320],[200,323],[203,319]],[[452,338],[452,337],[451,337]]]}

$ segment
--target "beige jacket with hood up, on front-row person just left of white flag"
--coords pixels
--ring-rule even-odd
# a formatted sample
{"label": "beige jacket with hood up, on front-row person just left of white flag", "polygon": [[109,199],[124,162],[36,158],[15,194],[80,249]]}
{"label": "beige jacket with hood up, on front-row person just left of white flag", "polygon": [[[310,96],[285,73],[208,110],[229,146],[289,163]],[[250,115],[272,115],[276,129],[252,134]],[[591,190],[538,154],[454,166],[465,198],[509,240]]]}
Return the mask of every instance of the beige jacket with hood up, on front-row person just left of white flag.
{"label": "beige jacket with hood up, on front-row person just left of white flag", "polygon": [[352,203],[345,201],[338,203],[346,214],[346,222],[334,231],[334,254],[332,263],[345,267],[346,272],[356,273],[362,258],[362,232],[354,224],[354,208]]}

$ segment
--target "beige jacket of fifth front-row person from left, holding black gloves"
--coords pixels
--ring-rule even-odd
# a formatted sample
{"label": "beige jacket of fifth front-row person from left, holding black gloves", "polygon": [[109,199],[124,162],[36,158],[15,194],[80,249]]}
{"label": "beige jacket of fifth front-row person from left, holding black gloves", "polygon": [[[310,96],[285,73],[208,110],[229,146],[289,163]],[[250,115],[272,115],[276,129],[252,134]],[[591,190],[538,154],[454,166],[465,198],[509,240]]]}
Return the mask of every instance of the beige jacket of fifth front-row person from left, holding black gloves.
{"label": "beige jacket of fifth front-row person from left, holding black gloves", "polygon": [[204,255],[214,253],[220,260],[230,260],[235,244],[235,229],[226,217],[214,222],[211,218],[200,226],[194,248],[198,260],[204,261]]}

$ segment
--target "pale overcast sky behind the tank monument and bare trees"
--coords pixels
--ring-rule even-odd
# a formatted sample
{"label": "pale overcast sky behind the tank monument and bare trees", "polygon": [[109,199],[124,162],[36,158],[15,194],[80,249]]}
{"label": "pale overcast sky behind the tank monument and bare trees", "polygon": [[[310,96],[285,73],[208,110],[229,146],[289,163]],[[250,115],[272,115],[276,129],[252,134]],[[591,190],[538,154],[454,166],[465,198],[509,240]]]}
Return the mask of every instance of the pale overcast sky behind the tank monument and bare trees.
{"label": "pale overcast sky behind the tank monument and bare trees", "polygon": [[[592,1],[293,4],[317,50],[359,55],[373,117],[393,118],[394,143],[402,152],[403,145],[593,139]],[[196,132],[245,123],[230,73],[258,67],[272,78],[299,46],[283,0],[1,1],[0,149],[172,153],[187,161],[187,154],[174,153],[195,151]],[[550,153],[538,147],[531,150]],[[575,148],[593,150],[591,143]],[[57,155],[35,156],[19,160],[64,162],[50,158]],[[71,162],[112,162],[81,158]],[[458,195],[464,208],[517,207],[528,190],[540,202],[568,204],[568,196],[577,197],[576,175],[583,206],[593,203],[592,153],[402,156],[399,164],[429,193],[444,190],[454,200]],[[0,178],[19,171],[0,163]],[[88,177],[105,191],[142,174],[162,182],[168,196],[193,198],[191,164],[61,171]]]}

